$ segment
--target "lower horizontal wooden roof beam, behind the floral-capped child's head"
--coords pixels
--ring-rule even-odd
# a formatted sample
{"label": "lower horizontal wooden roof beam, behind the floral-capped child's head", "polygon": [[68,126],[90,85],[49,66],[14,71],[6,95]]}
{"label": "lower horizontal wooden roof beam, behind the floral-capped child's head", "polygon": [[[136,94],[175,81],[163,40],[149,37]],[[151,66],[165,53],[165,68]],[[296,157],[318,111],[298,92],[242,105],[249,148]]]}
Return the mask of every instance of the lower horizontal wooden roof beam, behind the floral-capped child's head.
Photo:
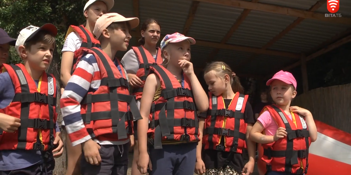
{"label": "lower horizontal wooden roof beam, behind the floral-capped child's head", "polygon": [[[137,36],[137,31],[130,32],[132,36]],[[140,35],[140,33],[139,33]],[[161,35],[161,38],[165,37],[165,35]],[[195,38],[196,39],[196,38]],[[201,41],[196,40],[196,44],[202,47],[209,47],[209,48],[216,48],[216,49],[227,49],[227,50],[236,50],[236,51],[243,51],[243,52],[250,52],[256,54],[263,54],[263,55],[273,55],[273,56],[282,56],[286,58],[294,58],[300,59],[300,54],[293,53],[293,52],[284,52],[284,51],[276,51],[276,50],[262,50],[259,48],[252,48],[240,45],[231,45],[231,44],[222,44],[210,41]]]}

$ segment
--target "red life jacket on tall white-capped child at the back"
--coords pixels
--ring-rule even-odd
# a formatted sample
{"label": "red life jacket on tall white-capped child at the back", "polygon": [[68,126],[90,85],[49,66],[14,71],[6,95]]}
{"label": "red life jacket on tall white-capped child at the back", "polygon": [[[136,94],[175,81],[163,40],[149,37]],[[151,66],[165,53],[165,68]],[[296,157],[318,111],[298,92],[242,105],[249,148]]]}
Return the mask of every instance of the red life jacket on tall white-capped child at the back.
{"label": "red life jacket on tall white-capped child at the back", "polygon": [[[100,47],[100,42],[99,40],[95,39],[95,37],[93,36],[92,33],[90,33],[90,31],[88,31],[83,25],[80,26],[69,26],[68,31],[70,30],[70,28],[72,28],[81,38],[82,38],[82,43],[80,45],[80,48],[78,50],[74,51],[74,57],[73,57],[73,64],[72,64],[72,71],[71,71],[71,75],[75,69],[75,67],[77,66],[77,63],[79,62],[79,59],[81,57],[81,51],[82,49],[90,49],[93,47]],[[69,33],[67,32],[67,35]],[[67,37],[66,35],[66,37]]]}

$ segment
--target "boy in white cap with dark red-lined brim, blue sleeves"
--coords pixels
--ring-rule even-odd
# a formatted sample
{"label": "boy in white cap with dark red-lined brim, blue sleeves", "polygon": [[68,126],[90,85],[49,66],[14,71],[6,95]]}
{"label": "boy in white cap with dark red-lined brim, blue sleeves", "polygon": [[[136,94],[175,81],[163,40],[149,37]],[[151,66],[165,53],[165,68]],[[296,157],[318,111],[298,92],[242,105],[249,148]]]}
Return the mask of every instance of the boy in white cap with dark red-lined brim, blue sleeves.
{"label": "boy in white cap with dark red-lined brim, blue sleeves", "polygon": [[[20,31],[15,48],[23,64],[0,74],[0,172],[52,175],[63,152],[57,124],[56,79],[45,70],[55,48],[52,24]],[[55,153],[57,152],[57,153]]]}

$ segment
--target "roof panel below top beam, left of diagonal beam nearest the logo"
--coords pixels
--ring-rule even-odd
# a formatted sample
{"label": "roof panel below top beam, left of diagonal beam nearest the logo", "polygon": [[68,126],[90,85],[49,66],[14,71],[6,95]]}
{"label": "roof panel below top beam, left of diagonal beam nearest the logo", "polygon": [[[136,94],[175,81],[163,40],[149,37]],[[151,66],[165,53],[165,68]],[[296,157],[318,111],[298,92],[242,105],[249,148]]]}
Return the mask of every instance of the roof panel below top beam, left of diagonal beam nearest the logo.
{"label": "roof panel below top beam, left of diagonal beam nearest the logo", "polygon": [[261,48],[294,20],[296,17],[251,10],[227,43]]}

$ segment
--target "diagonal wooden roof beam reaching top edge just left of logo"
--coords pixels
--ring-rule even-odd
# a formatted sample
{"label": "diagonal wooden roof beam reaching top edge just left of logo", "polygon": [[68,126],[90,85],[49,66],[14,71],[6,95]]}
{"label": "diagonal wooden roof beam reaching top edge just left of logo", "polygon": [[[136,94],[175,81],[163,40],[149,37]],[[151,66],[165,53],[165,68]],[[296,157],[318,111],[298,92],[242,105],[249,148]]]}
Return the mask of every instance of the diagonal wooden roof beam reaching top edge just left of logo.
{"label": "diagonal wooden roof beam reaching top edge just left of logo", "polygon": [[[316,11],[319,7],[321,7],[323,4],[326,3],[327,0],[319,0],[316,2],[310,9],[307,10],[307,12],[314,12]],[[275,42],[277,42],[280,38],[285,36],[289,31],[291,31],[293,28],[295,28],[297,25],[299,25],[305,18],[297,18],[294,22],[292,22],[289,26],[287,26],[283,31],[281,31],[278,35],[274,36],[272,40],[270,40],[267,44],[265,44],[262,49],[267,49],[271,47]],[[251,63],[255,58],[256,54],[253,54],[249,59],[246,59],[244,62],[238,64],[237,68],[241,68],[244,65],[247,65]]]}

